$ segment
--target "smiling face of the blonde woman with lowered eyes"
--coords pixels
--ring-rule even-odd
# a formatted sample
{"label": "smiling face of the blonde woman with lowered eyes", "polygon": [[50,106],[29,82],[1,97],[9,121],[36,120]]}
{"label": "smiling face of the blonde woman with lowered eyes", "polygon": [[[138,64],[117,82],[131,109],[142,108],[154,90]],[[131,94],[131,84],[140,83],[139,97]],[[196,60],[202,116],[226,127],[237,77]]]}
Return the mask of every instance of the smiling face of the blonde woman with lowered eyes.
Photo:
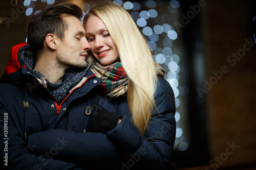
{"label": "smiling face of the blonde woman with lowered eyes", "polygon": [[86,22],[86,36],[92,46],[92,54],[102,65],[110,65],[119,59],[116,44],[103,21],[91,15]]}

